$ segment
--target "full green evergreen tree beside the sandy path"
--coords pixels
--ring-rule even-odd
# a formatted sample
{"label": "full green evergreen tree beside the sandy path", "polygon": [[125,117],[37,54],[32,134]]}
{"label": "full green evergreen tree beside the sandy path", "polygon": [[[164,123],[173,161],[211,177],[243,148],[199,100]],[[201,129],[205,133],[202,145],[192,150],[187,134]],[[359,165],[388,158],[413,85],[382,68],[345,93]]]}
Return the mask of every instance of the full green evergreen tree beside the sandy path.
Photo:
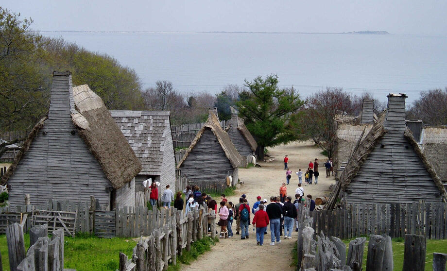
{"label": "full green evergreen tree beside the sandy path", "polygon": [[240,116],[258,142],[258,158],[264,159],[264,148],[287,143],[295,138],[287,129],[292,113],[303,106],[295,89],[279,89],[278,76],[260,76],[253,82],[245,80],[246,90],[237,102]]}

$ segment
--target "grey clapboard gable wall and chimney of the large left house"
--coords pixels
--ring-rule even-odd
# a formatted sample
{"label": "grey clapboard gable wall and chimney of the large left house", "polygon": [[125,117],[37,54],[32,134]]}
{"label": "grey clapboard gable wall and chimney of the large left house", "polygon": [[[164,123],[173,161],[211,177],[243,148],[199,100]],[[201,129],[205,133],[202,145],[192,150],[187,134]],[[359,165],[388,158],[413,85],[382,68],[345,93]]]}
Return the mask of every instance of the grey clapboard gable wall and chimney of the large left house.
{"label": "grey clapboard gable wall and chimney of the large left house", "polygon": [[69,87],[71,76],[53,77],[49,117],[8,180],[12,205],[23,204],[25,194],[33,205],[89,201],[90,195],[110,204],[112,186],[71,121]]}

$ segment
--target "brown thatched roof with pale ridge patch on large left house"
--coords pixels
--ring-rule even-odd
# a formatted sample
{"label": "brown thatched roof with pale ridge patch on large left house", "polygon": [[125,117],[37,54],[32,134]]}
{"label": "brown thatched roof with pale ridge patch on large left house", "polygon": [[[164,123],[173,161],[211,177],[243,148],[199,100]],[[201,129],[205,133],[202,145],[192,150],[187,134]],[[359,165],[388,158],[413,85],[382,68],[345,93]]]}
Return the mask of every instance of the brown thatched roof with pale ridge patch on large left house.
{"label": "brown thatched roof with pale ridge patch on large left house", "polygon": [[141,171],[137,156],[101,98],[88,85],[72,88],[71,119],[115,189]]}

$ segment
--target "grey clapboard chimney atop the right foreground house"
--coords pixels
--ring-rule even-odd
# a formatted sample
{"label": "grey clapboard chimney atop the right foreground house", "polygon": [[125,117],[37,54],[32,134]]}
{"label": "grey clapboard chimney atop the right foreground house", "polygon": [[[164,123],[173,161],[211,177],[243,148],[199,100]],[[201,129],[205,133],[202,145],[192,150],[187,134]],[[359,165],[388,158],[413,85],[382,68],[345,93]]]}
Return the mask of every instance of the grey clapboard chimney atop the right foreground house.
{"label": "grey clapboard chimney atop the right foreground house", "polygon": [[408,98],[408,96],[403,93],[390,93],[387,97],[388,112],[384,123],[385,131],[403,135],[407,128],[405,124],[405,98]]}

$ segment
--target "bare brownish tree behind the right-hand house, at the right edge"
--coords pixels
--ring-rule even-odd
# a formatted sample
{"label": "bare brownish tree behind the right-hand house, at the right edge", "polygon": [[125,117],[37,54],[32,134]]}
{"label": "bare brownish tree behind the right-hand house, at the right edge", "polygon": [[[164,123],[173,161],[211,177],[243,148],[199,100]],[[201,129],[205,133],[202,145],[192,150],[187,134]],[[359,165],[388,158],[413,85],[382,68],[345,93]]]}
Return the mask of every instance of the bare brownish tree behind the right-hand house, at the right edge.
{"label": "bare brownish tree behind the right-hand house, at the right edge", "polygon": [[447,88],[421,92],[407,112],[408,119],[422,119],[424,124],[447,125]]}

